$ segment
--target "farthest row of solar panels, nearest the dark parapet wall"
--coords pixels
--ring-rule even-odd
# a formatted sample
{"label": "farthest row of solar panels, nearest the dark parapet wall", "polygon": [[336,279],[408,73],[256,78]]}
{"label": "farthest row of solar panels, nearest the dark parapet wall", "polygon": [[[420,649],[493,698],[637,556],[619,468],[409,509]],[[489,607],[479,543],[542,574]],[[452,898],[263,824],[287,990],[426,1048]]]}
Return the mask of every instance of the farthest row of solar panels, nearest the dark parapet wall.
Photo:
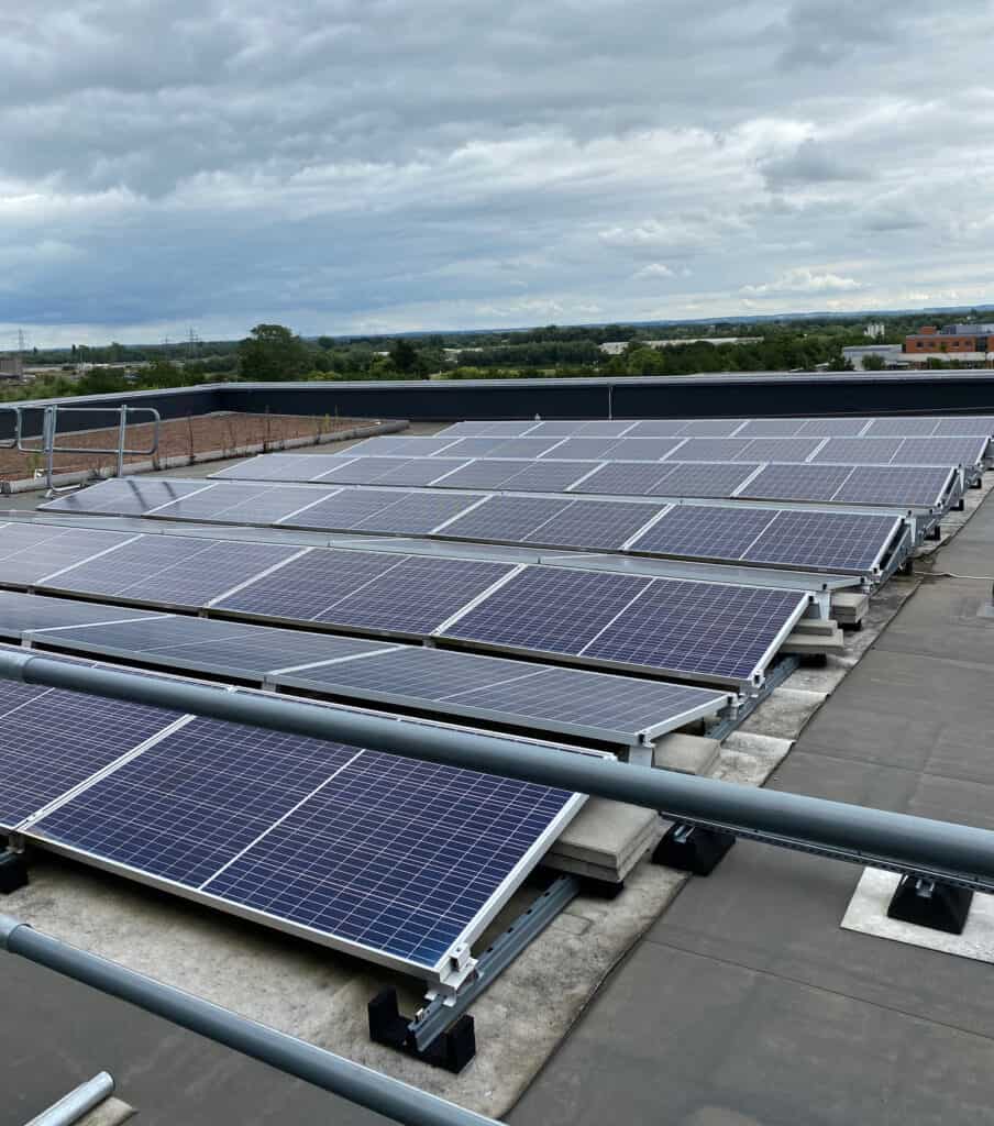
{"label": "farthest row of solar panels, nearest the dark parapet wall", "polygon": [[588,419],[536,422],[466,421],[440,438],[928,438],[994,437],[994,414],[892,418]]}

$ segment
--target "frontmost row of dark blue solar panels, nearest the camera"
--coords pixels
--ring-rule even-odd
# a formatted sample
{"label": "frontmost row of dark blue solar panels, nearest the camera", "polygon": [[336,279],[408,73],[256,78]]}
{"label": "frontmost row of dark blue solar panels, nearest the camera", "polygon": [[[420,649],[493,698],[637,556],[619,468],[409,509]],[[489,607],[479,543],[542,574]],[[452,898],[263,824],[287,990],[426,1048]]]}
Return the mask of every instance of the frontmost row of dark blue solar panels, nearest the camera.
{"label": "frontmost row of dark blue solar panels, nearest the camera", "polygon": [[582,801],[11,681],[0,778],[0,828],[437,976]]}

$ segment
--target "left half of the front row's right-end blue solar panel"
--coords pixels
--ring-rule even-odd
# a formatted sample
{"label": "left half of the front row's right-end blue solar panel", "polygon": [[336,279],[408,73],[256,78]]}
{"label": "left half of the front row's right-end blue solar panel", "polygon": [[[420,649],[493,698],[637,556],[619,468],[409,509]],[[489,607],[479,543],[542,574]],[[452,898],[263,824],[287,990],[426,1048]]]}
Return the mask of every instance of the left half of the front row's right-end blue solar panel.
{"label": "left half of the front row's right-end blue solar panel", "polygon": [[199,887],[357,754],[194,720],[38,822],[50,840]]}

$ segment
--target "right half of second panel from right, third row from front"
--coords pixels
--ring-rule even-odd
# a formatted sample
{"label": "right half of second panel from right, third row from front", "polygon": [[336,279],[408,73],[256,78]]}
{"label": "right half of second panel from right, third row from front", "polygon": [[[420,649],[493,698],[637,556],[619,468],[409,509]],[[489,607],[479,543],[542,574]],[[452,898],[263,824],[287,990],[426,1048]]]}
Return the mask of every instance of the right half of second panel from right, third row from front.
{"label": "right half of second panel from right, third row from front", "polygon": [[507,563],[404,556],[311,620],[384,634],[424,636],[514,572]]}

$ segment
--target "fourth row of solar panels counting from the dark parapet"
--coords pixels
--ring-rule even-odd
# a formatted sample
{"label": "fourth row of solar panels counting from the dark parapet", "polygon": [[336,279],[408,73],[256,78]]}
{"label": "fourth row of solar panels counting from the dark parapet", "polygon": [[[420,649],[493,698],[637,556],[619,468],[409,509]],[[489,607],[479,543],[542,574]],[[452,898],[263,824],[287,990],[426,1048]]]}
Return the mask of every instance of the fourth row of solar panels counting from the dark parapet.
{"label": "fourth row of solar panels counting from the dark parapet", "polygon": [[51,507],[321,531],[630,549],[866,575],[879,566],[902,525],[895,516],[869,513],[168,479],[105,481]]}

